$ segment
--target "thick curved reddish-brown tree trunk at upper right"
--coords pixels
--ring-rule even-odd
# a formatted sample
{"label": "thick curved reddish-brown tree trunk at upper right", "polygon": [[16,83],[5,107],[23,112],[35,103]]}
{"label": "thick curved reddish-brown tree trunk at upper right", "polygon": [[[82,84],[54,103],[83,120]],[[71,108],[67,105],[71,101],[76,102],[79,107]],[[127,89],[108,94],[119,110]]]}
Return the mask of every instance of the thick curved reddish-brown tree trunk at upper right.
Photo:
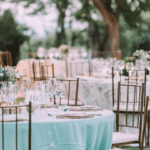
{"label": "thick curved reddish-brown tree trunk at upper right", "polygon": [[[119,50],[119,25],[116,14],[113,13],[110,6],[105,5],[102,0],[92,0],[95,7],[100,11],[104,18],[110,39],[111,56],[117,58]],[[110,3],[110,1],[109,1]]]}

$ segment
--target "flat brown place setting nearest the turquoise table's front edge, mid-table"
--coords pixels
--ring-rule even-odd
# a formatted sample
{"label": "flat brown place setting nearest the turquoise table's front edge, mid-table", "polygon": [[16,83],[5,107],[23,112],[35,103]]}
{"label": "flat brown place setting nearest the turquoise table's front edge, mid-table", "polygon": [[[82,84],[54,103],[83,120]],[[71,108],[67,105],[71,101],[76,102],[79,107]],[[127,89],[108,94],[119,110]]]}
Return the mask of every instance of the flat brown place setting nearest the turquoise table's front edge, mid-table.
{"label": "flat brown place setting nearest the turquoise table's front edge, mid-table", "polygon": [[60,119],[84,119],[84,118],[93,118],[94,115],[90,114],[65,114],[65,115],[57,115],[56,118]]}

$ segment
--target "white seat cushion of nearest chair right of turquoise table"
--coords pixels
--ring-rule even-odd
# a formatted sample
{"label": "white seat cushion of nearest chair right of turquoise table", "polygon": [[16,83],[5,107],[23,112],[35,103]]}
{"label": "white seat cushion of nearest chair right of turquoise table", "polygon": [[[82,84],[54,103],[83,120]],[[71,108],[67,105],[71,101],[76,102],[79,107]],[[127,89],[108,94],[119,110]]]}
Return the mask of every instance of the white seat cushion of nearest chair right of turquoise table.
{"label": "white seat cushion of nearest chair right of turquoise table", "polygon": [[139,139],[138,134],[127,134],[127,133],[121,133],[121,132],[113,132],[112,144],[138,141],[138,139]]}

